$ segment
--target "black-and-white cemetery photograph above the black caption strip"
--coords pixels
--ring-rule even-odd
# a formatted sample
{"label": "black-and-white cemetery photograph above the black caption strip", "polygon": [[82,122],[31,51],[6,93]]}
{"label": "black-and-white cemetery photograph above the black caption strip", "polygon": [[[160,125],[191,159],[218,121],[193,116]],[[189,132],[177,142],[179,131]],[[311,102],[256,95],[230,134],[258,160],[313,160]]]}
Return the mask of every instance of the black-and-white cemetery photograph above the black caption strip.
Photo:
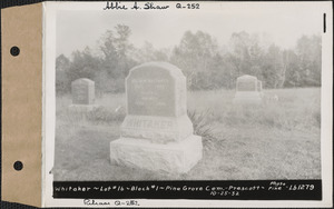
{"label": "black-and-white cemetery photograph above the black caption strip", "polygon": [[58,11],[55,180],[321,179],[321,22]]}

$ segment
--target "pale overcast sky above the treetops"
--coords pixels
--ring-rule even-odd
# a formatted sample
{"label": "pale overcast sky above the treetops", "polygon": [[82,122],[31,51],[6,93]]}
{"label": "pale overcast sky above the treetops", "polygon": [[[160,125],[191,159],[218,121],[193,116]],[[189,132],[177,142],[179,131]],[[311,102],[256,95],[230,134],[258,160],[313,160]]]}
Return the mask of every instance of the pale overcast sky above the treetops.
{"label": "pale overcast sky above the treetops", "polygon": [[57,56],[70,57],[73,50],[82,50],[86,46],[96,49],[106,30],[119,23],[130,27],[130,41],[136,47],[149,41],[155,48],[178,44],[187,30],[207,32],[219,46],[227,44],[233,32],[246,31],[266,33],[279,47],[293,48],[301,36],[321,34],[323,30],[323,11],[312,3],[217,7],[193,11],[58,11]]}

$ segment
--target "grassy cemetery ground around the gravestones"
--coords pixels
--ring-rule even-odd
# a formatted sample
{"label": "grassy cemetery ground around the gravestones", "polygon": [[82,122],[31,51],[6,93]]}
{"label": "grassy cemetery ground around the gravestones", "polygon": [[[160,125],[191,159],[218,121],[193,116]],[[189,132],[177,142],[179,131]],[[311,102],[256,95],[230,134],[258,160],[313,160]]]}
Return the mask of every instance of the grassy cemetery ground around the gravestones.
{"label": "grassy cemetery ground around the gravestones", "polygon": [[320,179],[321,89],[264,92],[279,100],[238,107],[233,90],[188,92],[195,132],[205,135],[203,159],[185,175],[110,165],[109,143],[120,135],[125,94],[96,98],[101,107],[87,115],[69,111],[70,96],[58,97],[55,180]]}

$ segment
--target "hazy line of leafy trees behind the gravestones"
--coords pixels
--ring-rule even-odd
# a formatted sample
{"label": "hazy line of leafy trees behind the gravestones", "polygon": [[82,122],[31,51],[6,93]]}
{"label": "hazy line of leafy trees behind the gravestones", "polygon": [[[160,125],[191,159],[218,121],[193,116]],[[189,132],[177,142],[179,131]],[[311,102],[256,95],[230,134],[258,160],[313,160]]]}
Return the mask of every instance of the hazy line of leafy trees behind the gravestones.
{"label": "hazy line of leafy trees behind the gravestones", "polygon": [[236,78],[257,77],[264,88],[320,87],[322,39],[302,36],[294,49],[281,49],[273,42],[263,43],[258,34],[234,32],[228,46],[220,47],[209,33],[186,31],[179,43],[169,49],[156,49],[145,42],[136,48],[131,30],[118,24],[99,40],[98,52],[88,47],[63,54],[56,60],[57,93],[70,92],[71,81],[89,78],[96,92],[124,92],[129,70],[147,61],[166,61],[180,68],[189,90],[234,89]]}

